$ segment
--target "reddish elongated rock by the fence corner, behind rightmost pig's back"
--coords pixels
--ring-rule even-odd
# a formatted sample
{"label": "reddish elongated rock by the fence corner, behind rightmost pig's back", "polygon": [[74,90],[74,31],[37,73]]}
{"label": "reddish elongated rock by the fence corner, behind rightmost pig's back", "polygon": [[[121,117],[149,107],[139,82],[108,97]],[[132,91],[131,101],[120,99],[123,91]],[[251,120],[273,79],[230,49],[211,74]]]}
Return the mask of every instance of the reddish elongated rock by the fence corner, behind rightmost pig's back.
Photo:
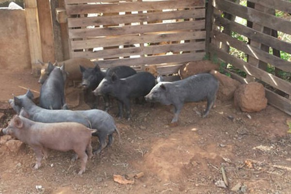
{"label": "reddish elongated rock by the fence corner, behind rightmost pig's back", "polygon": [[198,73],[209,73],[211,70],[218,70],[219,65],[213,64],[211,61],[193,61],[179,68],[178,74],[182,79],[188,78]]}

